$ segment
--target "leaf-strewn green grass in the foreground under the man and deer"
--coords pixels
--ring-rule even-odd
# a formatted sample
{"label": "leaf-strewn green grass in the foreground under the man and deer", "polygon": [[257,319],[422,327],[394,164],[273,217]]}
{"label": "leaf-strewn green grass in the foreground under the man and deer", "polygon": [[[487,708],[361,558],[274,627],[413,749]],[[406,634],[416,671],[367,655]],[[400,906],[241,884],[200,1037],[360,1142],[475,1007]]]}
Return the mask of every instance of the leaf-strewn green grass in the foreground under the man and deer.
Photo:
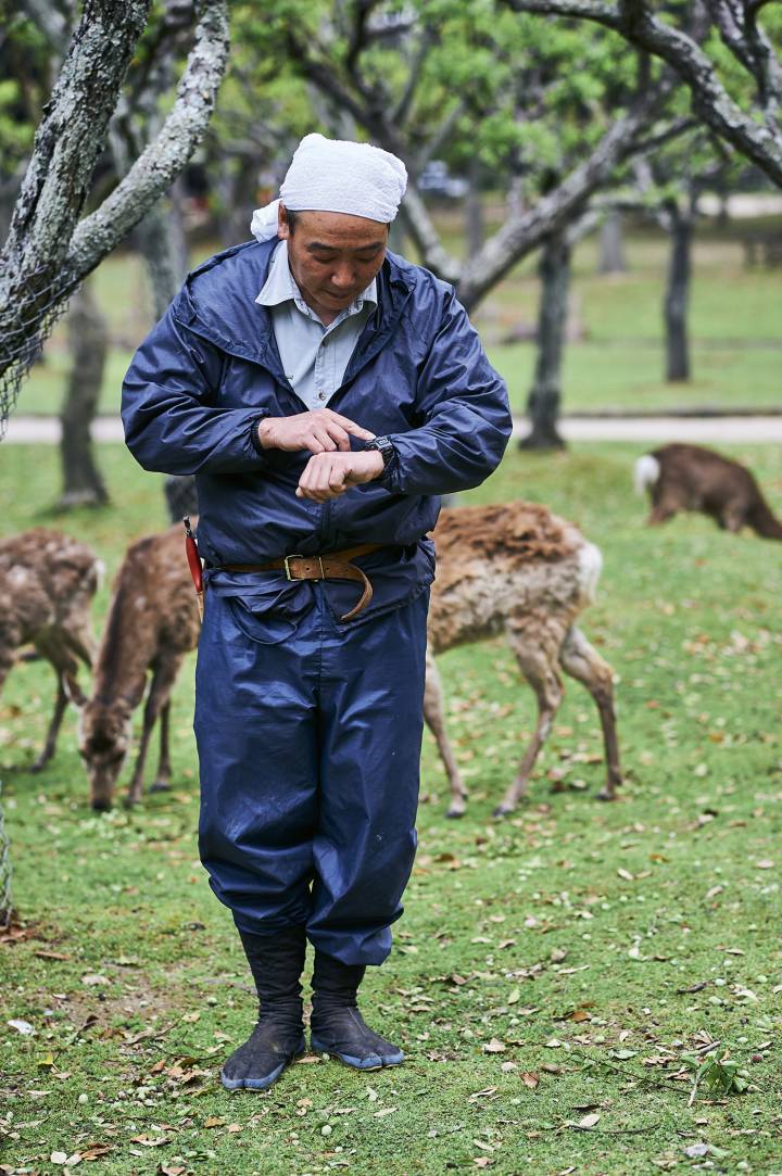
{"label": "leaf-strewn green grass in the foreground under the man and deer", "polygon": [[[780,548],[695,516],[646,529],[629,490],[639,452],[510,450],[464,496],[548,502],[601,546],[583,627],[619,675],[628,779],[617,803],[594,800],[596,715],[569,683],[530,799],[493,821],[532,694],[501,641],[442,659],[472,796],[461,822],[445,818],[427,736],[407,909],[363,990],[408,1055],[396,1070],[308,1057],[265,1095],[221,1089],[254,1002],[198,863],[193,666],[175,694],[173,790],[100,816],[73,716],[46,773],[14,770],[52,700],[47,667],[14,671],[0,762],[28,926],[0,943],[0,1171],[81,1156],[79,1171],[116,1176],[782,1172]],[[733,452],[782,512],[778,447]],[[2,448],[4,532],[51,522],[53,456]],[[101,462],[122,507],[64,526],[113,570],[126,541],[162,523],[162,496],[121,449]],[[693,1097],[682,1057],[711,1040],[747,1069],[746,1093]]]}

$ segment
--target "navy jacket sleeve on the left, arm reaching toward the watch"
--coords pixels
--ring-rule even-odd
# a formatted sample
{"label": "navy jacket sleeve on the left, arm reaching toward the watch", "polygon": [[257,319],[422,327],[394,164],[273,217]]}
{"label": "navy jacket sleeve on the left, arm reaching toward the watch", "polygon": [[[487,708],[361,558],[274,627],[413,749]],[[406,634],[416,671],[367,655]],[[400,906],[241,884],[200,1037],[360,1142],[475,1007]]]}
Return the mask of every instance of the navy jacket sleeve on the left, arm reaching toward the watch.
{"label": "navy jacket sleeve on the left, arm reaching toward the watch", "polygon": [[215,405],[225,356],[183,325],[180,293],[133,358],[122,385],[125,442],[145,469],[165,474],[261,470],[259,408]]}

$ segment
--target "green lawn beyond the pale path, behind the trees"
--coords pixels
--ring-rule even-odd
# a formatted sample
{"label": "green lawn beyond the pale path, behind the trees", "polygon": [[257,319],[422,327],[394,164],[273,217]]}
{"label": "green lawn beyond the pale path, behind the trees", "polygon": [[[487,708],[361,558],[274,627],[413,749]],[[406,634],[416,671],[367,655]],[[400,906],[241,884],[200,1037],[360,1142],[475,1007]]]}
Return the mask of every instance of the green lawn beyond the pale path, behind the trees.
{"label": "green lawn beyond the pale path, behind the trees", "polygon": [[[209,252],[201,247],[194,260]],[[636,232],[628,236],[626,254],[628,273],[606,276],[597,273],[594,238],[575,252],[573,307],[583,338],[566,350],[564,412],[782,408],[778,272],[746,269],[735,240],[703,229],[694,250],[693,379],[667,385],[661,334],[667,242],[659,233]],[[502,340],[520,323],[535,323],[535,258],[529,258],[517,266],[474,314],[493,362],[508,381],[516,412],[527,401],[535,347]],[[143,268],[133,254],[113,254],[94,281],[113,341],[101,412],[115,413],[133,348],[152,325],[152,307]],[[58,412],[68,363],[60,323],[46,347],[45,362],[22,388],[20,412]]]}

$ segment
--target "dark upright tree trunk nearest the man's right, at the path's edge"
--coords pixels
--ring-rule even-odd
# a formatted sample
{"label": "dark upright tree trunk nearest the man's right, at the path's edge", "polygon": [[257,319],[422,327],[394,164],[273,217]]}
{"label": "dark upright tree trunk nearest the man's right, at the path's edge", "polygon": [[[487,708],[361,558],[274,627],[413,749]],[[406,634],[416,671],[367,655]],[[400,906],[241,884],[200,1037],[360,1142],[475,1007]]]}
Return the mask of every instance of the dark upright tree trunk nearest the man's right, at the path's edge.
{"label": "dark upright tree trunk nearest the man's right, at the path's edge", "polygon": [[527,400],[532,433],[519,442],[520,449],[563,449],[557,432],[561,400],[562,353],[568,318],[570,286],[570,245],[567,230],[553,233],[543,246],[539,273],[541,299],[537,315],[537,358],[535,380]]}

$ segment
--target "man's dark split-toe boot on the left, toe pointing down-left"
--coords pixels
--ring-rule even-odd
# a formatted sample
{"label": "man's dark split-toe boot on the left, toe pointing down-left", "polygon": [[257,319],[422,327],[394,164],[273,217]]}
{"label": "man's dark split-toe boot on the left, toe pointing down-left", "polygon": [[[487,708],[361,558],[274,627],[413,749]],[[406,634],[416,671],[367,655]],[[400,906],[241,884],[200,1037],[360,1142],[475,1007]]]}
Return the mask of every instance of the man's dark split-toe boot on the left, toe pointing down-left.
{"label": "man's dark split-toe boot on the left, toe pointing down-left", "polygon": [[307,941],[303,927],[272,935],[239,931],[249,963],[260,1010],[258,1024],[222,1068],[228,1090],[266,1090],[286,1065],[305,1050],[301,971]]}

